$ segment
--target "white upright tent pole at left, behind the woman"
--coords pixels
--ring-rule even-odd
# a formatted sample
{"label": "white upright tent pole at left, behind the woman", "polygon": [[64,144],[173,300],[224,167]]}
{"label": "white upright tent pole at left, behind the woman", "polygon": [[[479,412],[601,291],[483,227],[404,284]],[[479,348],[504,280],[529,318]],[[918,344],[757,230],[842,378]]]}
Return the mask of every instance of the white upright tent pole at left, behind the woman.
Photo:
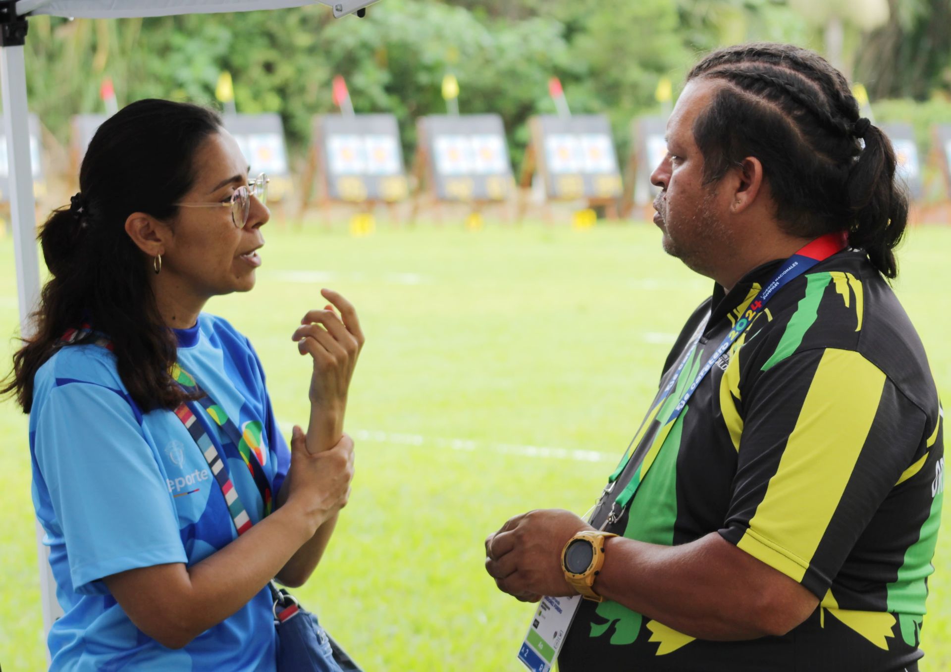
{"label": "white upright tent pole at left, behind the woman", "polygon": [[[8,21],[9,18],[7,17]],[[4,20],[0,17],[0,29],[4,28],[2,23]],[[21,37],[25,37],[25,34]],[[18,41],[19,45],[5,44]],[[9,39],[8,35],[0,37],[0,86],[3,95],[3,129],[7,136],[9,156],[10,214],[16,255],[16,287],[20,306],[20,334],[25,336],[33,330],[30,314],[35,310],[40,296],[40,269],[36,254],[36,202],[33,198],[33,175],[29,156],[26,74],[22,41]],[[49,547],[43,545],[43,535],[43,528],[37,522],[36,548],[45,635],[63,611],[56,601],[55,583],[49,569]],[[47,657],[49,661],[49,648]]]}

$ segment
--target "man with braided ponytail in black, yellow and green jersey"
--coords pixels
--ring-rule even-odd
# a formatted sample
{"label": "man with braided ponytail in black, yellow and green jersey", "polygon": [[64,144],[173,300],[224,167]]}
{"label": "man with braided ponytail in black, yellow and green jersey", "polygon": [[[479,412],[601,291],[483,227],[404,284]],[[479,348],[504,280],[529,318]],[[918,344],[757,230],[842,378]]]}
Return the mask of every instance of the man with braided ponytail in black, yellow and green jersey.
{"label": "man with braided ponytail in black, yellow and green jersey", "polygon": [[515,516],[486,568],[589,598],[562,672],[917,670],[942,413],[887,281],[892,146],[840,72],[774,44],[709,54],[667,130],[654,222],[712,296],[591,519]]}

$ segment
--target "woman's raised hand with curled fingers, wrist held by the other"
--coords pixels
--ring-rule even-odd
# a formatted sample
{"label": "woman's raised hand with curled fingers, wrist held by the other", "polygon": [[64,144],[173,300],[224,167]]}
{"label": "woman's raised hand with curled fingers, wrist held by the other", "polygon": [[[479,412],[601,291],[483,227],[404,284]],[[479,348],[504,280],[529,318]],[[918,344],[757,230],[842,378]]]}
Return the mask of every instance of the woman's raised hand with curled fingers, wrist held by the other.
{"label": "woman's raised hand with curled fingers, wrist held by the other", "polygon": [[350,380],[364,341],[353,304],[329,289],[320,290],[320,294],[332,305],[309,311],[293,336],[301,355],[309,354],[314,360],[307,429],[307,450],[311,452],[328,450],[340,440]]}

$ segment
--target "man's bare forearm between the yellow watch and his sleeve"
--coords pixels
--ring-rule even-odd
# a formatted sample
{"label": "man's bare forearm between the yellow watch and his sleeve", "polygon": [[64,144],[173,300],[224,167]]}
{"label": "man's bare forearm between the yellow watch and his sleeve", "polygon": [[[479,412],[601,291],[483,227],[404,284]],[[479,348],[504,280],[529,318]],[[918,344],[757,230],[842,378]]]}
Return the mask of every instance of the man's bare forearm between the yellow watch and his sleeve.
{"label": "man's bare forearm between the yellow watch and his sleeve", "polygon": [[685,635],[715,641],[785,634],[818,603],[716,532],[674,547],[608,539],[594,590]]}

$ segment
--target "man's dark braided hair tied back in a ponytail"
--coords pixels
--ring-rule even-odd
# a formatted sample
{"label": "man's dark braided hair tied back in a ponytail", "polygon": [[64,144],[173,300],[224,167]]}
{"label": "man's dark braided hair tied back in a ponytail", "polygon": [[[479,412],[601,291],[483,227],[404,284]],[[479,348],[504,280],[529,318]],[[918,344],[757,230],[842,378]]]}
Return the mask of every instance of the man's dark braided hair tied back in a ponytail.
{"label": "man's dark braided hair tied back in a ponytail", "polygon": [[[693,134],[705,182],[756,157],[786,232],[813,238],[848,231],[886,278],[898,267],[908,199],[895,151],[867,120],[839,70],[813,51],[770,43],[719,49],[687,81],[722,80]],[[862,142],[864,140],[864,144]]]}

